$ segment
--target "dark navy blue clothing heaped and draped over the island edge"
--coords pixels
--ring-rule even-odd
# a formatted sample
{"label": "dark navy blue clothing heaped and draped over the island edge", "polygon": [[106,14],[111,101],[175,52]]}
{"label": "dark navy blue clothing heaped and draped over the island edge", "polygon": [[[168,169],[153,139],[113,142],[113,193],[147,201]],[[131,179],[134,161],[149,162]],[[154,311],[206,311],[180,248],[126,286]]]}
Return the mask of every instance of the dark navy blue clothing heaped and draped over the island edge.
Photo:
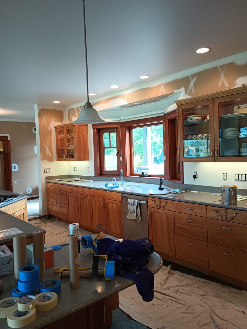
{"label": "dark navy blue clothing heaped and draped over the island edge", "polygon": [[115,261],[116,273],[134,280],[137,291],[146,302],[154,298],[154,274],[146,267],[148,256],[154,252],[152,241],[148,238],[138,240],[114,241],[109,238],[99,239],[98,251]]}

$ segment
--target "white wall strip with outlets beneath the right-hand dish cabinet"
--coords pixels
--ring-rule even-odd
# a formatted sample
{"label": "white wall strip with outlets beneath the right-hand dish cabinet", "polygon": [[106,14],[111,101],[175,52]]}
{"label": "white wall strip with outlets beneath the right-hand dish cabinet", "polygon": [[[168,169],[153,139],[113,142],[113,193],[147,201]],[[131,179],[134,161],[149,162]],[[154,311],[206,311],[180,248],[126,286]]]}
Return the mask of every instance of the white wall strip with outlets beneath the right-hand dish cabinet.
{"label": "white wall strip with outlets beneath the right-hand dish cabinet", "polygon": [[[247,174],[246,162],[184,162],[184,183],[193,184],[193,173],[197,171],[195,185],[221,186],[237,184],[239,189],[247,189],[247,182],[235,181],[235,173]],[[222,178],[227,173],[227,180]]]}

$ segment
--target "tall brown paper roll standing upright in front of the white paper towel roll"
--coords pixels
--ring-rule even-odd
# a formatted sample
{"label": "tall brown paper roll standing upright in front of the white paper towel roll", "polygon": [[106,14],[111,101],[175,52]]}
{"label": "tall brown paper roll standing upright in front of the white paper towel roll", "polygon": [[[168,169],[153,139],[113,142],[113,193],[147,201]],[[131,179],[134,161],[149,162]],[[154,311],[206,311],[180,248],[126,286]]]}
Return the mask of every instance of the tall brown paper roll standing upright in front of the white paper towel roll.
{"label": "tall brown paper roll standing upright in front of the white paper towel roll", "polygon": [[70,288],[79,287],[77,235],[69,235]]}

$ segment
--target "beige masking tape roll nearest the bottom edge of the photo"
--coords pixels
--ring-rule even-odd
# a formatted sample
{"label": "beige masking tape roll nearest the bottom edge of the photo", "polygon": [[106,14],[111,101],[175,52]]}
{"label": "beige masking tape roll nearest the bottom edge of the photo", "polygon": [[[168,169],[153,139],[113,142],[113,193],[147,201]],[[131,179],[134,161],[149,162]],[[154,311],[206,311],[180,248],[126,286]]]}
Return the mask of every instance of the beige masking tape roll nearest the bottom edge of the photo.
{"label": "beige masking tape roll nearest the bottom edge of the photo", "polygon": [[36,310],[19,311],[16,307],[8,314],[8,326],[10,328],[22,328],[31,324],[36,319]]}

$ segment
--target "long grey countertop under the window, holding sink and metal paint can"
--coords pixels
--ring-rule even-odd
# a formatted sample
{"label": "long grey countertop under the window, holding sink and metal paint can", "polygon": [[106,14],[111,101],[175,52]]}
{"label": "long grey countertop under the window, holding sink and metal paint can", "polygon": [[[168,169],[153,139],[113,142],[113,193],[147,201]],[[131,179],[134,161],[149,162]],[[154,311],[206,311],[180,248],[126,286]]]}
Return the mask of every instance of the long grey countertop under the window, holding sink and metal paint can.
{"label": "long grey countertop under the window, holding sink and metal paint can", "polygon": [[[152,198],[162,198],[167,200],[173,201],[181,201],[181,202],[192,202],[196,204],[202,204],[206,206],[213,206],[213,207],[221,207],[221,208],[229,208],[235,210],[243,210],[247,211],[247,200],[239,201],[236,205],[224,205],[219,200],[221,199],[220,195],[213,195],[210,192],[199,192],[194,193],[190,190],[183,193],[169,193],[166,195],[150,195],[148,193],[149,190],[157,191],[158,184],[146,184],[146,183],[134,183],[134,182],[126,182],[123,187],[129,188],[131,190],[123,190],[123,188],[118,189],[107,189],[105,188],[106,181],[90,181],[90,182],[63,182],[57,179],[47,180],[48,183],[56,183],[56,184],[65,184],[70,186],[78,186],[78,187],[85,187],[90,189],[98,189],[98,190],[107,190],[116,193],[127,193],[133,195],[142,195],[142,196],[149,196]],[[163,185],[164,189],[174,189],[173,186]]]}

